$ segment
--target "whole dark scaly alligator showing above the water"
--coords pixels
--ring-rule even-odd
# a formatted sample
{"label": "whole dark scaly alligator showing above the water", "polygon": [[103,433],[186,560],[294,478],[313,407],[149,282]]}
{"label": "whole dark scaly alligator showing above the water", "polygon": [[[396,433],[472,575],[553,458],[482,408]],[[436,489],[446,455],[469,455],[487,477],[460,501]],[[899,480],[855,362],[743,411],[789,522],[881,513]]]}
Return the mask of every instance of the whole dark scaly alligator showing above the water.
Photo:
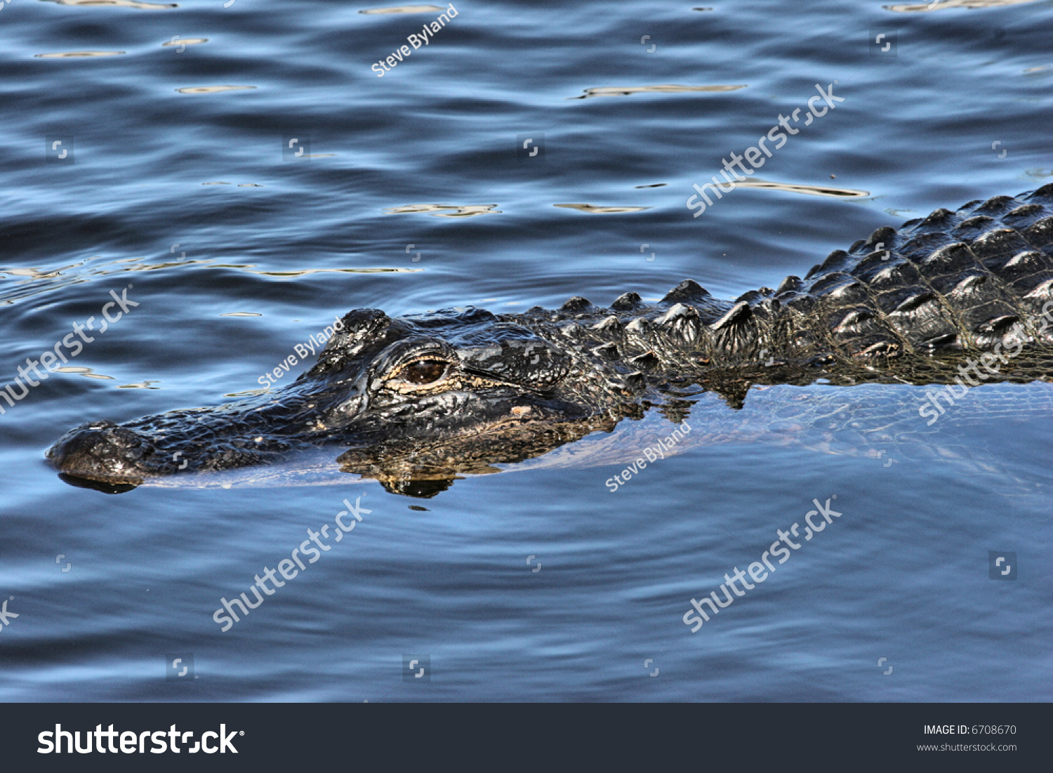
{"label": "whole dark scaly alligator showing above the water", "polygon": [[93,421],[46,458],[68,482],[117,492],[338,447],[341,470],[434,496],[457,473],[538,457],[652,408],[682,422],[706,392],[735,409],[756,384],[1045,379],[1051,310],[1053,183],[879,227],[803,279],[734,300],[686,280],[657,303],[629,292],[607,308],[573,297],[520,314],[357,309],[286,386]]}

